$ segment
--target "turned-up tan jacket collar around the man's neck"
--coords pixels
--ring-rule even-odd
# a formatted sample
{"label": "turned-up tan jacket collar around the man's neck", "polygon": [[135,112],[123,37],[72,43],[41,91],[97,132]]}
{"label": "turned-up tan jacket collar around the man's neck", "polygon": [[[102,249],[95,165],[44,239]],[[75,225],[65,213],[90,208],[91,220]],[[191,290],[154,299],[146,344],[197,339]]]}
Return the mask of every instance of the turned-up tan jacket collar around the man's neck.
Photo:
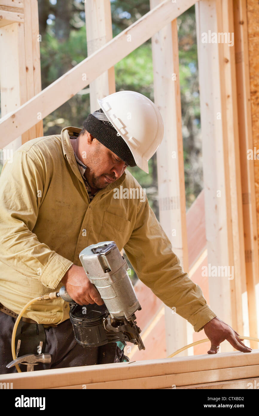
{"label": "turned-up tan jacket collar around the man's neck", "polygon": [[[81,181],[84,184],[84,180],[81,176],[81,173],[79,172],[79,168],[76,163],[76,158],[74,156],[74,149],[72,148],[72,145],[70,143],[70,138],[69,138],[69,136],[74,135],[73,132],[79,134],[81,130],[82,129],[79,129],[79,127],[73,127],[73,126],[64,127],[64,129],[62,129],[61,131],[61,142],[62,142],[62,149],[63,149],[64,157],[67,159],[76,177],[79,179],[79,181]],[[109,192],[113,190],[114,188],[117,188],[118,186],[121,185],[121,183],[123,183],[125,178],[126,178],[126,171],[115,182],[109,183],[109,185],[107,185],[105,188],[100,189],[100,191],[96,193],[96,196],[100,196],[103,193]],[[94,197],[94,199],[96,198],[96,196]]]}

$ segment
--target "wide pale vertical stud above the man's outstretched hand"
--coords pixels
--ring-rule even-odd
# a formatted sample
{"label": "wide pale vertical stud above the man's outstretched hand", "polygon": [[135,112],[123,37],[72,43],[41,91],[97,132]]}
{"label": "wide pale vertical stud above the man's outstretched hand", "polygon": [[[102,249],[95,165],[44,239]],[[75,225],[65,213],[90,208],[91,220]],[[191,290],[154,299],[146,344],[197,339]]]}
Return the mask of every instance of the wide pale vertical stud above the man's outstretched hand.
{"label": "wide pale vertical stud above the man's outstretched hand", "polygon": [[[202,43],[202,33],[217,32],[215,1],[202,0],[195,5],[200,109],[202,128],[203,178],[208,263],[229,265],[229,228],[227,223],[220,64],[217,44]],[[211,80],[213,79],[213,82]],[[221,193],[221,194],[220,194]],[[220,195],[218,197],[217,195]],[[232,323],[229,300],[230,282],[225,277],[208,277],[210,305],[225,322]]]}

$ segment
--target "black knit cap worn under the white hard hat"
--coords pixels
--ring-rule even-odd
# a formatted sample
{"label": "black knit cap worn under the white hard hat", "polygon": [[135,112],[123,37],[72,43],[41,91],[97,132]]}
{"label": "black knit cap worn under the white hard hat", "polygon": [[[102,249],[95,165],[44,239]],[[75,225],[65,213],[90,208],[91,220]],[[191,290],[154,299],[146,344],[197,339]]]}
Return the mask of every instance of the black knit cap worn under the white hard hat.
{"label": "black knit cap worn under the white hard hat", "polygon": [[[94,113],[104,114],[104,111],[100,108],[94,111]],[[102,121],[93,114],[89,114],[83,126],[95,139],[115,153],[128,166],[136,166],[136,162],[128,145],[121,136],[117,136],[117,130],[114,129],[110,121]]]}

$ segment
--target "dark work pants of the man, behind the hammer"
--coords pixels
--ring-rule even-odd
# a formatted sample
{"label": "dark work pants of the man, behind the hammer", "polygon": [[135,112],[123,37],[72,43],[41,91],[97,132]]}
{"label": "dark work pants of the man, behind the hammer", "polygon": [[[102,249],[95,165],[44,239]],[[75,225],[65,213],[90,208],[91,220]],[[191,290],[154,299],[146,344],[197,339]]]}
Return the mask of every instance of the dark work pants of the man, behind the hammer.
{"label": "dark work pants of the man, behind the hammer", "polygon": [[[12,361],[11,339],[15,318],[0,311],[0,374],[16,373],[15,367],[10,369],[6,365]],[[35,325],[36,324],[30,324]],[[46,345],[42,352],[51,354],[50,364],[38,364],[35,370],[77,367],[93,364],[109,364],[123,361],[123,351],[116,342],[101,347],[82,347],[74,337],[70,319],[57,327],[45,328]],[[27,354],[37,354],[27,351]],[[20,354],[19,354],[20,355]],[[25,364],[20,364],[21,371],[27,371]]]}

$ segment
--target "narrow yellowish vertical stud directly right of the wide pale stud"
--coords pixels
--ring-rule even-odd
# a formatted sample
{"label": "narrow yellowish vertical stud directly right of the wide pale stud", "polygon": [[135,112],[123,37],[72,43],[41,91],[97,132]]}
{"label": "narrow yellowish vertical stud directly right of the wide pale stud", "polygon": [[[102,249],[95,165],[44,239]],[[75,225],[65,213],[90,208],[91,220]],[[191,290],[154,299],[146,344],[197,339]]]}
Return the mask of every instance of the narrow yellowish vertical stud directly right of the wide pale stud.
{"label": "narrow yellowish vertical stud directly right of the wide pale stud", "polygon": [[[230,280],[232,325],[239,334],[244,333],[244,321],[248,322],[248,307],[242,293],[246,292],[246,268],[244,257],[244,228],[242,210],[242,186],[239,153],[239,121],[237,111],[237,84],[234,50],[233,3],[217,2],[218,32],[231,34],[229,42],[219,44],[223,149],[227,196],[227,221],[229,223],[229,265],[234,266],[234,278]],[[232,45],[232,46],[229,46]]]}

